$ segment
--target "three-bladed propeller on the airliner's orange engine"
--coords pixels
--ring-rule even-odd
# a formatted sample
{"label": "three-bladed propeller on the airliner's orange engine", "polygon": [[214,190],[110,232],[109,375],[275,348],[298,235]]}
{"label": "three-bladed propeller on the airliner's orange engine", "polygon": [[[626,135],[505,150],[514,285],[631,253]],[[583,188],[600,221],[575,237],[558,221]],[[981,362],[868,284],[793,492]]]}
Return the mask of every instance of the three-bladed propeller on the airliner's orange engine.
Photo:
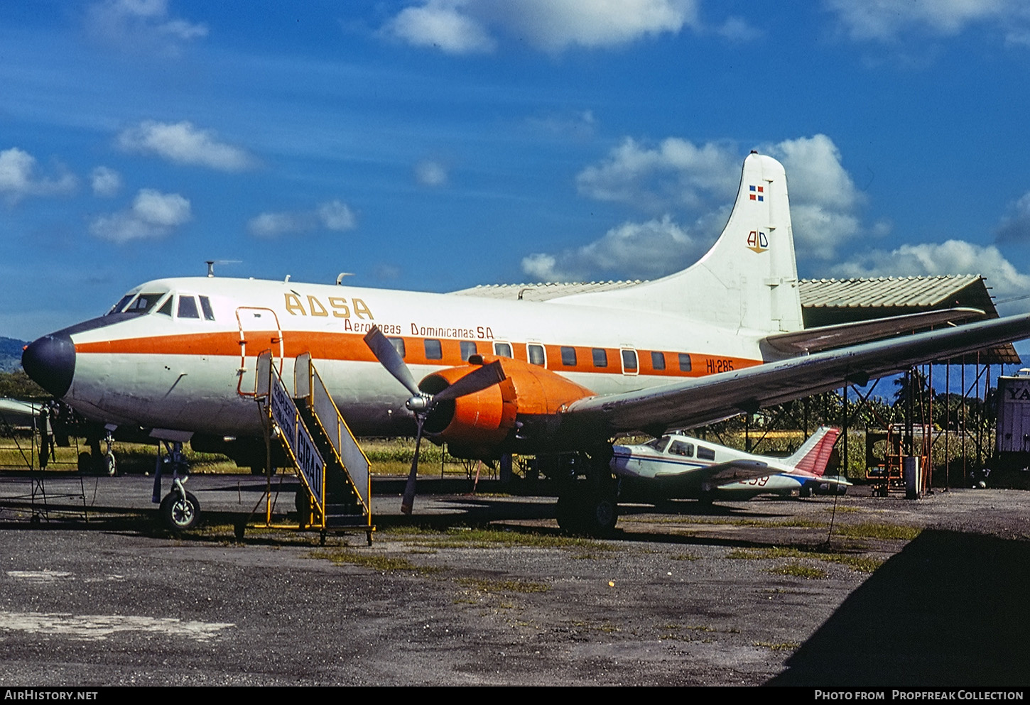
{"label": "three-bladed propeller on the airliner's orange engine", "polygon": [[365,336],[365,344],[372,350],[379,363],[393,376],[404,388],[411,392],[411,397],[405,402],[405,407],[415,414],[415,457],[411,459],[411,471],[408,473],[408,483],[404,486],[404,496],[401,498],[401,512],[411,514],[411,507],[415,503],[415,478],[418,475],[418,449],[422,443],[422,426],[425,419],[441,401],[450,401],[460,396],[475,394],[488,387],[492,387],[505,380],[505,371],[501,366],[500,360],[494,360],[489,364],[484,364],[478,369],[474,369],[454,384],[449,385],[438,394],[423,392],[415,383],[415,378],[408,368],[404,358],[398,353],[397,348],[389,342],[378,327],[373,327]]}

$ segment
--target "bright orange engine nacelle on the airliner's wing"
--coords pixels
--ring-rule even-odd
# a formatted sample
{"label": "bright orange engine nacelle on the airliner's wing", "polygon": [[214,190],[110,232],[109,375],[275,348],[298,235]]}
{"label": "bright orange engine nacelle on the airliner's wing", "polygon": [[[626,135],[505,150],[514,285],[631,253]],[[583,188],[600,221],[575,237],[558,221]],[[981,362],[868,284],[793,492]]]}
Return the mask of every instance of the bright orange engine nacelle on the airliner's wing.
{"label": "bright orange engine nacelle on the airliner's wing", "polygon": [[502,444],[515,427],[519,415],[553,415],[566,403],[592,396],[575,382],[510,357],[474,355],[471,364],[448,367],[423,379],[418,387],[438,394],[477,368],[501,360],[505,380],[473,394],[442,401],[425,420],[424,432],[435,440],[487,454]]}

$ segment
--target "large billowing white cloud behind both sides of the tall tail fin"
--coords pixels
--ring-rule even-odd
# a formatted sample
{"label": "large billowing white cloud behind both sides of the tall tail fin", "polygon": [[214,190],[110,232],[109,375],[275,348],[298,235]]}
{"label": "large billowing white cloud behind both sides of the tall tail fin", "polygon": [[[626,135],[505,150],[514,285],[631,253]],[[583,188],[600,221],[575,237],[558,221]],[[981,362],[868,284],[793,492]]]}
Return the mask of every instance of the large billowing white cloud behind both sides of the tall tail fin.
{"label": "large billowing white cloud behind both sides of the tall tail fin", "polygon": [[[863,226],[865,195],[825,135],[765,145],[787,171],[799,257],[830,259],[861,236],[883,237],[889,223]],[[527,276],[548,281],[605,277],[654,278],[699,258],[725,225],[741,178],[743,150],[731,142],[694,144],[671,137],[655,145],[625,139],[577,176],[582,196],[625,204],[651,216],[627,221],[596,241],[522,260]],[[691,223],[688,227],[676,220]]]}

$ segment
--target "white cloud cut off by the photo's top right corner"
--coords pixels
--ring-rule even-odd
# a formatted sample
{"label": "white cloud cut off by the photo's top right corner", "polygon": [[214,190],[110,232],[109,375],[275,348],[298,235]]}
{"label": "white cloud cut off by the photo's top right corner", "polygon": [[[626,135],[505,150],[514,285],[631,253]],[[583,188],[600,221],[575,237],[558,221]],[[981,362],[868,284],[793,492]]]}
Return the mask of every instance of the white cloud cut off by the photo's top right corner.
{"label": "white cloud cut off by the photo's top right corner", "polygon": [[1006,39],[1027,36],[1030,6],[1025,0],[825,0],[853,39],[891,41],[908,30],[940,36],[961,33],[974,24],[1002,30]]}

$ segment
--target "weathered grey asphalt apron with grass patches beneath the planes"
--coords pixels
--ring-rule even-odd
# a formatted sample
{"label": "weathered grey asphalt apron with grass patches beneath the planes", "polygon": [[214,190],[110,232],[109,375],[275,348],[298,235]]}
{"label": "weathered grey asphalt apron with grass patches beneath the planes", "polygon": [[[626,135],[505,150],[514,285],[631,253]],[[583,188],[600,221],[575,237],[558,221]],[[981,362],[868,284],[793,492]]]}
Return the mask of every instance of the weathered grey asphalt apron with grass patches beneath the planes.
{"label": "weathered grey asphalt apron with grass patches beneath the planes", "polygon": [[1030,684],[1027,492],[630,505],[594,540],[553,498],[406,518],[379,483],[370,548],[238,541],[250,475],[192,477],[171,535],[150,485],[0,477],[0,686]]}

